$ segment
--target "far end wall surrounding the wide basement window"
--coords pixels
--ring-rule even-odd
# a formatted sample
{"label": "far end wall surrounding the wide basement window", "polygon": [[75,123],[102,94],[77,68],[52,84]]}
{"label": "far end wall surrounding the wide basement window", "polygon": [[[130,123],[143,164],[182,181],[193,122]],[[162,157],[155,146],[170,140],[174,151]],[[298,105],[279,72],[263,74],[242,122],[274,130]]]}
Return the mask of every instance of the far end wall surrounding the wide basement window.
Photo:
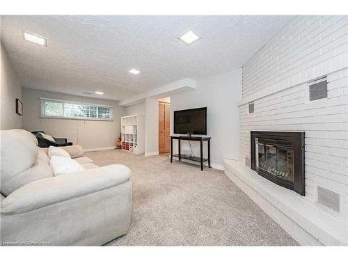
{"label": "far end wall surrounding the wide basement window", "polygon": [[[23,129],[33,132],[43,130],[56,137],[66,137],[68,141],[81,145],[85,149],[105,148],[115,145],[120,133],[120,117],[124,116],[125,108],[118,106],[118,102],[102,100],[45,90],[22,89],[24,114]],[[40,97],[105,104],[113,106],[113,121],[103,120],[72,120],[40,117]]]}

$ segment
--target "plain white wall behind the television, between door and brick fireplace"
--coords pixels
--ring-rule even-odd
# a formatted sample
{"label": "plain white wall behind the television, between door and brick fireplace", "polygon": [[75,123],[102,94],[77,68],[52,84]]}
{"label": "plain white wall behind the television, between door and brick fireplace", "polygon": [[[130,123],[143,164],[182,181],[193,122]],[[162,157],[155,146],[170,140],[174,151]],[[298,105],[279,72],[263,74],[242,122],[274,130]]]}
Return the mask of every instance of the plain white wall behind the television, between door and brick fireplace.
{"label": "plain white wall behind the television, between door and brick fireplace", "polygon": [[[239,111],[237,101],[242,98],[242,69],[233,70],[197,81],[196,90],[171,96],[173,111],[207,106],[207,136],[211,136],[211,161],[222,168],[223,158],[239,157]],[[172,122],[171,122],[172,123]],[[173,124],[171,124],[173,134]],[[183,143],[182,152],[189,150]],[[194,155],[199,155],[199,144],[191,142]],[[205,148],[207,146],[205,145]],[[174,151],[177,143],[174,141]],[[205,150],[207,157],[207,150]]]}

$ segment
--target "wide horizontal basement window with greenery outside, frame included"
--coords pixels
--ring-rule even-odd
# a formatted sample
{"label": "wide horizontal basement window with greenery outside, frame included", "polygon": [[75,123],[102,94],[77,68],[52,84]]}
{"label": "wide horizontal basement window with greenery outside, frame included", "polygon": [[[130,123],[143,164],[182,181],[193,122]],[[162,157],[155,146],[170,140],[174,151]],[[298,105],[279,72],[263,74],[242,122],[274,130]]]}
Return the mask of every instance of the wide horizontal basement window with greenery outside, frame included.
{"label": "wide horizontal basement window with greenery outside, frame included", "polygon": [[113,106],[40,98],[41,117],[113,120]]}

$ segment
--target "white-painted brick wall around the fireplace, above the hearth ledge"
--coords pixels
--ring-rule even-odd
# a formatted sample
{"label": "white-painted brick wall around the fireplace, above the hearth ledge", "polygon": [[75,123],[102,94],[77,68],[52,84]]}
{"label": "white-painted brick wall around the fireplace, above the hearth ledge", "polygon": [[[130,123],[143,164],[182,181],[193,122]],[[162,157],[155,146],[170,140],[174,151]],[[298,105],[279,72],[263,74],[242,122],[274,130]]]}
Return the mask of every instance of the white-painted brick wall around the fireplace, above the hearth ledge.
{"label": "white-painted brick wall around the fireplace, above the hearth ledge", "polygon": [[[326,75],[328,97],[310,102],[308,82]],[[244,65],[242,93],[240,159],[251,130],[306,132],[306,197],[340,193],[348,216],[348,17],[296,17]]]}

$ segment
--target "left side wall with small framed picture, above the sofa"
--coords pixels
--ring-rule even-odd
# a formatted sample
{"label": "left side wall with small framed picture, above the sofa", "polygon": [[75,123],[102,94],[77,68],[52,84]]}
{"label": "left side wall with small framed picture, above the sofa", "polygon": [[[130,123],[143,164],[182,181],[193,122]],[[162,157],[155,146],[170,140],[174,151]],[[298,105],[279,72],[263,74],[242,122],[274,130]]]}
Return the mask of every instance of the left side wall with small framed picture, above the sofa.
{"label": "left side wall with small framed picture, above the sofa", "polygon": [[[16,98],[22,101],[22,87],[19,84],[6,50],[1,45],[1,89],[0,89],[0,129],[21,129],[22,116],[16,113]],[[24,107],[24,111],[27,108]]]}

